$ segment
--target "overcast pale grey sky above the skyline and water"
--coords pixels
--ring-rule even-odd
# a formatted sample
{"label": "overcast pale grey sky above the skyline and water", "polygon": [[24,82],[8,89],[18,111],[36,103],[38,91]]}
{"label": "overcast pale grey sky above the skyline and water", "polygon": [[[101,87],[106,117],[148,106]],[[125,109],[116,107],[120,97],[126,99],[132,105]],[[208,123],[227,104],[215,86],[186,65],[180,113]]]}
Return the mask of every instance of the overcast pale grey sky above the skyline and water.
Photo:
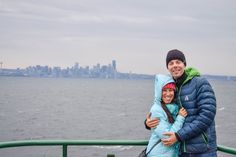
{"label": "overcast pale grey sky above the skyline and water", "polygon": [[236,75],[235,0],[0,0],[0,62],[168,73],[179,49],[202,74]]}

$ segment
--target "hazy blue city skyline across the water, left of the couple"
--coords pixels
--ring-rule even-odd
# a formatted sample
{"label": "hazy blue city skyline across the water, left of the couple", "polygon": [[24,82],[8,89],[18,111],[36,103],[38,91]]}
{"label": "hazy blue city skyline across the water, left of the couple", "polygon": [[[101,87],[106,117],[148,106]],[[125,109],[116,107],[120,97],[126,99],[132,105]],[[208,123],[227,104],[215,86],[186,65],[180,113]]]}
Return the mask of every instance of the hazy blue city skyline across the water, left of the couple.
{"label": "hazy blue city skyline across the water, left of the couple", "polygon": [[26,68],[3,69],[0,68],[0,76],[41,77],[41,78],[101,78],[101,79],[152,79],[154,75],[123,73],[117,71],[116,61],[112,60],[107,65],[97,63],[93,67],[80,66],[76,62],[71,67],[59,66],[28,66]]}

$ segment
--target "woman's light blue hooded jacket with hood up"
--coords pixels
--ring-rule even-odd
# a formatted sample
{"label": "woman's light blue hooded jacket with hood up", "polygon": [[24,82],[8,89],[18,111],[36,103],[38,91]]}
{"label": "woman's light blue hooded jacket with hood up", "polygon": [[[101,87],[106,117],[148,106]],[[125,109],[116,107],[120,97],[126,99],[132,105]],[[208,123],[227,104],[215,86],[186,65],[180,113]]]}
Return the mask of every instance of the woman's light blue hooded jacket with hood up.
{"label": "woman's light blue hooded jacket with hood up", "polygon": [[[155,129],[152,129],[152,134],[147,146],[147,152],[150,151],[153,145],[157,143],[160,139],[166,138],[163,133],[165,132],[177,132],[184,123],[184,117],[178,115],[179,107],[177,104],[168,104],[167,108],[169,109],[172,116],[175,118],[173,124],[169,123],[167,114],[161,106],[162,100],[162,88],[168,84],[174,82],[171,76],[169,75],[156,75],[155,78],[155,99],[154,104],[151,108],[151,118],[160,119],[160,123]],[[179,143],[172,145],[171,147],[163,145],[162,142],[157,144],[152,151],[148,154],[148,157],[178,157],[179,153]]]}

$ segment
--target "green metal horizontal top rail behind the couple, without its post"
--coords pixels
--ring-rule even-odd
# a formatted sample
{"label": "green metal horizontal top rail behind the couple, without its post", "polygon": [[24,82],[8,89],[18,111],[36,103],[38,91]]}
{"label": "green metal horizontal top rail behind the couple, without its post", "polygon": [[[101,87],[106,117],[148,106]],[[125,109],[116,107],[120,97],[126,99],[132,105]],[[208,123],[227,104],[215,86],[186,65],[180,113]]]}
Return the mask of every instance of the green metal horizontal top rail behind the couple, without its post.
{"label": "green metal horizontal top rail behind the couple, without its post", "polygon": [[[1,148],[21,147],[21,146],[98,146],[98,145],[123,145],[123,146],[146,146],[147,140],[22,140],[0,142]],[[236,155],[236,149],[222,145],[217,146],[217,150]]]}

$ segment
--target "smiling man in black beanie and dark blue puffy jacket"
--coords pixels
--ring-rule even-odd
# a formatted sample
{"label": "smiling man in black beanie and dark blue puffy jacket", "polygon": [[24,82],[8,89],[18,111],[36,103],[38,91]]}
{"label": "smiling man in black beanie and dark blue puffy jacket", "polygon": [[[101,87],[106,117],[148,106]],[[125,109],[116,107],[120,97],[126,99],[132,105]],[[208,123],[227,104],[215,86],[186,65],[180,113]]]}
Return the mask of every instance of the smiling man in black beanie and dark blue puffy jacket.
{"label": "smiling man in black beanie and dark blue puffy jacket", "polygon": [[[166,57],[166,66],[177,85],[177,102],[187,110],[188,116],[178,132],[167,132],[162,139],[166,146],[181,142],[181,157],[216,157],[215,114],[216,99],[209,82],[194,68],[186,68],[184,54],[171,50]],[[147,128],[158,127],[158,119],[147,116]]]}

